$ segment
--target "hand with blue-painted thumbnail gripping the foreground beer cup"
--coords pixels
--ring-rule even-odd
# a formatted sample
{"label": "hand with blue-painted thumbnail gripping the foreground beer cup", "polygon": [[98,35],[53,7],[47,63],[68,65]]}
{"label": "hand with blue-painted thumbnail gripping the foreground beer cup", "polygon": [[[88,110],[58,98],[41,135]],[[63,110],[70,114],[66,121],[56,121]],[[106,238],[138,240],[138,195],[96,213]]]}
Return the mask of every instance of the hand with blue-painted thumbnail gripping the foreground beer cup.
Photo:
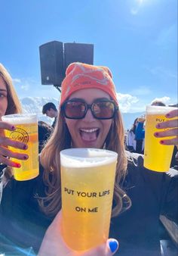
{"label": "hand with blue-painted thumbnail gripping the foreground beer cup", "polygon": [[38,256],[112,256],[118,250],[118,241],[108,239],[106,243],[84,252],[77,252],[70,249],[63,241],[61,235],[61,211],[54,218],[48,227]]}

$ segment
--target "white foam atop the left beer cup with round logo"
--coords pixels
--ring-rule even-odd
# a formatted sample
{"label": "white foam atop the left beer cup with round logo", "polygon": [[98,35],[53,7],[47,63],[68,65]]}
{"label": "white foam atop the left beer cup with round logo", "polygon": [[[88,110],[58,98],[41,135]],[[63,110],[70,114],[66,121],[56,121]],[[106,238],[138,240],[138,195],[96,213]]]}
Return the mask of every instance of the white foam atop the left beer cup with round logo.
{"label": "white foam atop the left beer cup with round logo", "polygon": [[36,123],[36,114],[7,114],[2,116],[2,120],[8,123],[21,124],[21,123]]}

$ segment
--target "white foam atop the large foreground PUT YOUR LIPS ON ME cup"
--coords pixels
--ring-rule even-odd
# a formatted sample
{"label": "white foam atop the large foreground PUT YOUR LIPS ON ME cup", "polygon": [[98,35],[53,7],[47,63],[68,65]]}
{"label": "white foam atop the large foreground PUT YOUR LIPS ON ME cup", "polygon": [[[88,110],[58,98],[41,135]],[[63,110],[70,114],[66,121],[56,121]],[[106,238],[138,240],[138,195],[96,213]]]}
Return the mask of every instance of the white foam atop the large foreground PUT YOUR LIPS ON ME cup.
{"label": "white foam atop the large foreground PUT YOUR LIPS ON ME cup", "polygon": [[116,161],[114,151],[95,148],[69,148],[60,151],[60,161],[65,167],[97,167]]}

